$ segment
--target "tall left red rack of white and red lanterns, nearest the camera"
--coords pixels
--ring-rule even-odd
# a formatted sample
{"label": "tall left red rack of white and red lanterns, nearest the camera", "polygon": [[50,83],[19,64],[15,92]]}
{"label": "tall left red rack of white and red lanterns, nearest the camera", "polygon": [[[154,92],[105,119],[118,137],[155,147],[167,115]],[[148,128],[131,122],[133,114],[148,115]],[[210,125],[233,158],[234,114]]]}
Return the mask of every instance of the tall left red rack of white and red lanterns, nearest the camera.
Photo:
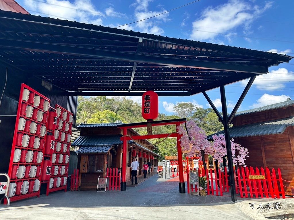
{"label": "tall left red rack of white and red lanterns, nearest the camera", "polygon": [[11,202],[40,195],[49,106],[50,99],[21,84],[8,170]]}

